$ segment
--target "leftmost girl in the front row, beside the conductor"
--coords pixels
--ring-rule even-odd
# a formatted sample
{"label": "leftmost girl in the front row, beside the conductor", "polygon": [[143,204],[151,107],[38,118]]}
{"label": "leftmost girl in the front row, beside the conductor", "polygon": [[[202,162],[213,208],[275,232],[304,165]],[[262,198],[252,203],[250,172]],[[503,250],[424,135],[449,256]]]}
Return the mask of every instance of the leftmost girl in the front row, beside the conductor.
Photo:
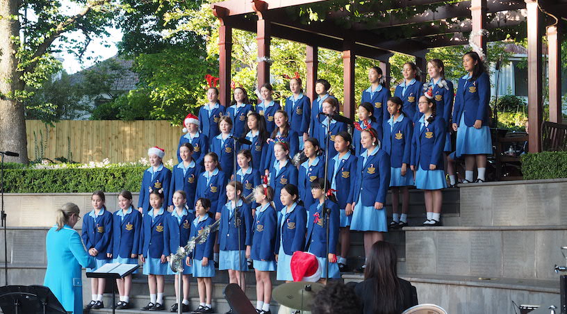
{"label": "leftmost girl in the front row, beside the conductor", "polygon": [[[92,210],[83,219],[83,232],[81,238],[85,248],[88,249],[90,256],[97,259],[97,267],[90,269],[92,272],[99,269],[102,265],[110,263],[112,257],[112,214],[106,210],[104,202],[104,192],[97,190],[92,193],[90,203]],[[102,294],[104,293],[104,278],[90,279],[90,288],[92,289],[92,301],[87,308],[104,308]]]}

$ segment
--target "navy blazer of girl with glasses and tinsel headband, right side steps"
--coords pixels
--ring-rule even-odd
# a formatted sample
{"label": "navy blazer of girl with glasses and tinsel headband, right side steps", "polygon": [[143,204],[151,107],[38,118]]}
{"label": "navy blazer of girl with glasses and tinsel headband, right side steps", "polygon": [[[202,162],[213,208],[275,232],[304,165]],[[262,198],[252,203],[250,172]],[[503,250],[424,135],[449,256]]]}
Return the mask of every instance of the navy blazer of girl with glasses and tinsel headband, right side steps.
{"label": "navy blazer of girl with glasses and tinsel headband, right side steps", "polygon": [[420,165],[422,170],[429,170],[429,165],[436,165],[436,170],[443,170],[443,147],[447,132],[445,121],[436,117],[423,128],[420,122],[421,119],[413,129],[411,165]]}

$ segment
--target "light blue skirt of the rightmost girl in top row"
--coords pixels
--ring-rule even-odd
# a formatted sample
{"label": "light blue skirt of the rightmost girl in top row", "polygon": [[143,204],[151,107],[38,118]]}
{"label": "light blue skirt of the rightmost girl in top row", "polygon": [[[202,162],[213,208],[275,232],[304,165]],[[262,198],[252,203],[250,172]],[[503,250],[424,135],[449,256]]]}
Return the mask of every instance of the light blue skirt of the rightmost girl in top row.
{"label": "light blue skirt of the rightmost girl in top row", "polygon": [[463,155],[492,154],[492,138],[488,126],[475,129],[474,126],[466,126],[465,115],[461,115],[459,129],[457,129],[457,157]]}

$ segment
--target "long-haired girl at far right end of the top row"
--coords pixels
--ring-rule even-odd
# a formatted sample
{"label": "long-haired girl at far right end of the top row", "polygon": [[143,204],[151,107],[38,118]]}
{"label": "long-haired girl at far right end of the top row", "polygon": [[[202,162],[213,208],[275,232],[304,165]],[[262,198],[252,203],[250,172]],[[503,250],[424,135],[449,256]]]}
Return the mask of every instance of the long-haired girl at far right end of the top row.
{"label": "long-haired girl at far right end of the top row", "polygon": [[465,157],[463,183],[473,182],[475,165],[478,170],[475,182],[484,182],[486,156],[492,154],[492,139],[488,129],[490,78],[476,52],[465,53],[463,65],[468,74],[459,79],[453,110],[453,130],[457,131],[455,152],[457,157]]}

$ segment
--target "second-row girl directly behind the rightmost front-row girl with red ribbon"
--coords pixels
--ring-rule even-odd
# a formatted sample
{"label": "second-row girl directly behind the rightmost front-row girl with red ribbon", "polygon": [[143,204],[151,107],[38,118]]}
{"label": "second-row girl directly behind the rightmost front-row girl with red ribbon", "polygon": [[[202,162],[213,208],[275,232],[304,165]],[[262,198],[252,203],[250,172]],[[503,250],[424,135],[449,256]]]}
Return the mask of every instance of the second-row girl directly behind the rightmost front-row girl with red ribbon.
{"label": "second-row girl directly behind the rightmost front-row girl with red ribbon", "polygon": [[309,208],[315,203],[311,195],[311,182],[324,177],[324,160],[319,157],[321,148],[316,138],[307,139],[303,151],[307,160],[299,165],[297,188],[299,188],[299,199],[303,201],[304,206]]}

